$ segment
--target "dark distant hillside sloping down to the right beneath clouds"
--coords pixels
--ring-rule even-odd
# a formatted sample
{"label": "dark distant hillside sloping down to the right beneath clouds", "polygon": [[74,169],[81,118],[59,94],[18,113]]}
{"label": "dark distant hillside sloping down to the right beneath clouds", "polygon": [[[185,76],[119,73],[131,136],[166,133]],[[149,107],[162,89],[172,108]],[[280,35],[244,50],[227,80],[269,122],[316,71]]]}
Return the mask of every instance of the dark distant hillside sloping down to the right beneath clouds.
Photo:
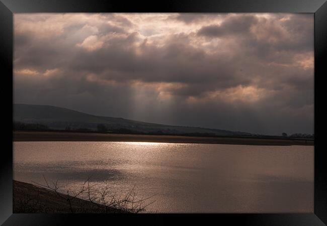
{"label": "dark distant hillside sloping down to the right beneath clouds", "polygon": [[97,131],[99,125],[101,125],[107,132],[215,136],[251,135],[250,133],[227,130],[168,126],[123,118],[93,116],[62,107],[32,104],[14,104],[14,122],[20,126],[25,124],[44,125],[54,130],[65,130],[68,128],[70,130]]}

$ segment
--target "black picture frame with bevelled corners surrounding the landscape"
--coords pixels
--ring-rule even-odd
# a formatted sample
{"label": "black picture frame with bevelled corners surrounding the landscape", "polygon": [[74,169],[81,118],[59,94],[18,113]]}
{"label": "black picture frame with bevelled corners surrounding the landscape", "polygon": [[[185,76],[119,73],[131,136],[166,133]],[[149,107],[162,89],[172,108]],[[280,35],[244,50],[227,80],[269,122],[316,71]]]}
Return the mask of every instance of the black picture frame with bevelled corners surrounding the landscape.
{"label": "black picture frame with bevelled corners surrounding the landscape", "polygon": [[[4,87],[13,85],[13,14],[14,13],[98,13],[98,12],[176,12],[176,13],[314,13],[314,213],[286,214],[210,214],[214,222],[241,223],[246,225],[324,225],[327,224],[327,178],[325,170],[325,145],[323,116],[323,77],[326,73],[326,40],[327,40],[327,3],[324,0],[166,0],[159,2],[139,2],[126,0],[0,0],[0,65],[2,68],[2,96],[6,97],[3,105],[4,121],[12,127],[13,98],[9,98],[10,90]],[[5,91],[6,90],[6,91]],[[13,92],[11,92],[13,94]],[[318,108],[316,107],[318,106]],[[11,110],[10,110],[11,109]],[[6,117],[6,119],[5,119]],[[12,179],[13,179],[13,143],[12,134],[3,135],[3,142],[8,144],[2,150],[1,157],[1,189],[0,192],[0,223],[3,225],[61,225],[67,220],[74,224],[95,224],[95,222],[138,219],[151,224],[168,223],[176,214],[13,214]],[[208,214],[181,214],[187,220],[195,217],[207,217]],[[124,217],[122,221],[121,218]],[[127,218],[126,218],[127,217]],[[173,219],[174,220],[174,219]],[[184,220],[184,219],[183,219]],[[174,220],[175,221],[175,220]],[[126,223],[127,224],[127,223]]]}

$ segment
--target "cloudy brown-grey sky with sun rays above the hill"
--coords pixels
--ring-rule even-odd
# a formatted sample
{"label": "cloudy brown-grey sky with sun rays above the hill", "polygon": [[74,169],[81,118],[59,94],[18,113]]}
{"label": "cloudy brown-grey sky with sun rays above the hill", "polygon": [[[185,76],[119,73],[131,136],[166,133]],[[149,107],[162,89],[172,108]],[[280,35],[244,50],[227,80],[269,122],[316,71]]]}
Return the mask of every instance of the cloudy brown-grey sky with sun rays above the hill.
{"label": "cloudy brown-grey sky with sun rays above the hill", "polygon": [[14,103],[313,133],[313,14],[14,14]]}

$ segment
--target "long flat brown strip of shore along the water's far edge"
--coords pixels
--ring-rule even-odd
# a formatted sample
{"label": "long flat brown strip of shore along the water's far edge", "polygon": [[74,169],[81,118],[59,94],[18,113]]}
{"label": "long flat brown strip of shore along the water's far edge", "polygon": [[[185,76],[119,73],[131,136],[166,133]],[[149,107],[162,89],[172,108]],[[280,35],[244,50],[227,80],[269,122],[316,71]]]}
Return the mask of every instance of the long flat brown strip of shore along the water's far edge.
{"label": "long flat brown strip of shore along the water's far edge", "polygon": [[314,145],[313,140],[268,139],[251,137],[188,137],[169,135],[101,134],[72,132],[13,132],[14,141],[118,141],[118,142],[159,142],[198,143],[233,145]]}

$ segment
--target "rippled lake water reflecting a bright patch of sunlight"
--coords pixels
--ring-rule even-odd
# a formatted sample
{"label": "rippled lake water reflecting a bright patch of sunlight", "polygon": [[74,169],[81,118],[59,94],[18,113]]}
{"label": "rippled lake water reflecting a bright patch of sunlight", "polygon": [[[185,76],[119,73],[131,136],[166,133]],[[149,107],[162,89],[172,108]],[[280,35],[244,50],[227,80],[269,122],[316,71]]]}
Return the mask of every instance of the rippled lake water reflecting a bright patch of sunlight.
{"label": "rippled lake water reflecting a bright patch of sunlight", "polygon": [[313,212],[313,146],[14,142],[14,179],[151,197],[146,212]]}

